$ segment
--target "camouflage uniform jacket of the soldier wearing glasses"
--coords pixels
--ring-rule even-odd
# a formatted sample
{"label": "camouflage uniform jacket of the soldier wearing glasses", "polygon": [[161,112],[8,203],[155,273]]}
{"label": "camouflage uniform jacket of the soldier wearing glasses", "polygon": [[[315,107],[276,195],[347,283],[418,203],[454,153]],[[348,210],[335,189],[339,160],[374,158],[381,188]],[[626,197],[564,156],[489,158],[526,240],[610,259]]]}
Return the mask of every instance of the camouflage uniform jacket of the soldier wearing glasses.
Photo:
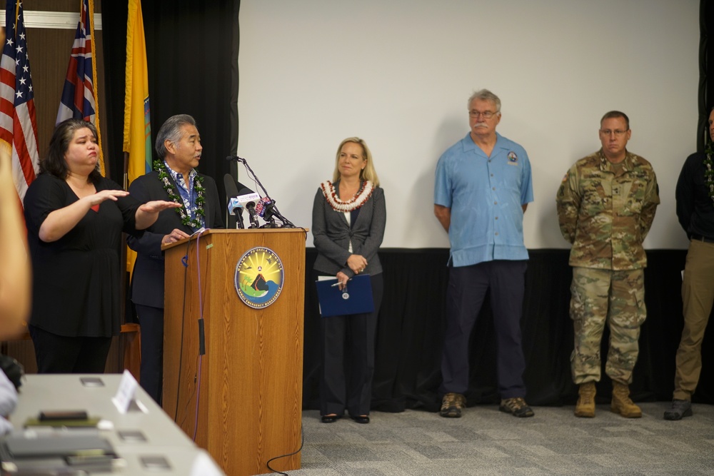
{"label": "camouflage uniform jacket of the soldier wearing glasses", "polygon": [[600,151],[575,162],[555,197],[560,233],[573,248],[570,265],[629,270],[644,268],[645,239],[660,203],[655,171],[626,152],[616,171]]}

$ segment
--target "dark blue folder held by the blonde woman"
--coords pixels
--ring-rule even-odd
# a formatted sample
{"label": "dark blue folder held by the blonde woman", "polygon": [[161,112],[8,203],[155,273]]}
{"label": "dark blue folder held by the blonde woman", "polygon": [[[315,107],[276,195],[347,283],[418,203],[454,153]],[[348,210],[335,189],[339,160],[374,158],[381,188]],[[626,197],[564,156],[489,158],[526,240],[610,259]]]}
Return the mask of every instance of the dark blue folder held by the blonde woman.
{"label": "dark blue folder held by the blonde woman", "polygon": [[371,313],[374,310],[372,281],[368,274],[353,276],[343,290],[340,290],[336,283],[336,278],[315,281],[323,318]]}

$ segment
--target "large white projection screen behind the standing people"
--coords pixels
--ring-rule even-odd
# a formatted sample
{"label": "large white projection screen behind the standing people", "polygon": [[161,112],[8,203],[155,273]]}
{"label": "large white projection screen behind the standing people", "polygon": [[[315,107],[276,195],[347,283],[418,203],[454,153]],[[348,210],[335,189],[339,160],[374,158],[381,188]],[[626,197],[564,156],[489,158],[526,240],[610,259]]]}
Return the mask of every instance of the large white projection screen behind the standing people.
{"label": "large white projection screen behind the standing people", "polygon": [[238,155],[297,226],[311,226],[338,143],[359,136],[385,192],[383,247],[448,248],[434,168],[468,132],[468,96],[488,88],[498,132],[531,159],[528,248],[568,247],[555,191],[600,148],[612,109],[660,184],[645,247],[687,244],[674,192],[696,148],[698,0],[243,0],[240,27]]}

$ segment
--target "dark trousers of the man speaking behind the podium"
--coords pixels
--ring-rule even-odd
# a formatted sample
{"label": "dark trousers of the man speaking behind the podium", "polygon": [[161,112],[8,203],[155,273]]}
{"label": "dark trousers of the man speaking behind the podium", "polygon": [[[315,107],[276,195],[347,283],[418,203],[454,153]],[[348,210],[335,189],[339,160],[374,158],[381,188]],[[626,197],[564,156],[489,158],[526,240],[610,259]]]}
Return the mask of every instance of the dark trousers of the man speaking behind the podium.
{"label": "dark trousers of the man speaking behind the podium", "polygon": [[141,373],[139,383],[161,405],[164,388],[164,309],[136,305],[141,325]]}

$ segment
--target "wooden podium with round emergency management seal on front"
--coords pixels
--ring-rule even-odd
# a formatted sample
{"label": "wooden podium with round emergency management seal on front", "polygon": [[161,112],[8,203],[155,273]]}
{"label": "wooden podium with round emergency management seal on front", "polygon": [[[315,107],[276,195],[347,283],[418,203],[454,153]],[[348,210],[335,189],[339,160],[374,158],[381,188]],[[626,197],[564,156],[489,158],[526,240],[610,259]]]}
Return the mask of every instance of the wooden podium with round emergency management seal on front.
{"label": "wooden podium with round emergency management seal on front", "polygon": [[[164,247],[164,410],[229,476],[270,472],[301,445],[305,239],[209,230]],[[236,281],[270,298],[280,263],[272,303],[239,298]],[[271,467],[298,470],[300,453]]]}

